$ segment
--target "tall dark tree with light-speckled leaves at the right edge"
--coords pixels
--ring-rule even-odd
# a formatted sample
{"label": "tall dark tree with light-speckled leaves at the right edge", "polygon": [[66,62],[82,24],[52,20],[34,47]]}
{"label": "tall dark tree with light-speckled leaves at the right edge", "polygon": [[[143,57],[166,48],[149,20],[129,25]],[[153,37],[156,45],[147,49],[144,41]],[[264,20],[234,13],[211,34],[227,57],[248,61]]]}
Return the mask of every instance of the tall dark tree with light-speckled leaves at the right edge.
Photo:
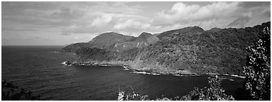
{"label": "tall dark tree with light-speckled leaves at the right edge", "polygon": [[244,67],[244,87],[254,100],[270,100],[270,25],[259,32],[260,39],[246,48],[250,53]]}

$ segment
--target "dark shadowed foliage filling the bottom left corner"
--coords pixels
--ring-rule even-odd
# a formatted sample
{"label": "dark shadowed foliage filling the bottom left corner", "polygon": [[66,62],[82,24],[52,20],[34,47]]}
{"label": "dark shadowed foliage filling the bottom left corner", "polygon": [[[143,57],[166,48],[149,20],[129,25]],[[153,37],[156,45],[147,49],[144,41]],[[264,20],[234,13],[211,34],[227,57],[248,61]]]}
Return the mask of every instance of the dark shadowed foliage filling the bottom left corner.
{"label": "dark shadowed foliage filling the bottom left corner", "polygon": [[40,96],[33,96],[31,91],[20,89],[12,82],[6,80],[2,81],[2,101],[39,101],[42,100]]}

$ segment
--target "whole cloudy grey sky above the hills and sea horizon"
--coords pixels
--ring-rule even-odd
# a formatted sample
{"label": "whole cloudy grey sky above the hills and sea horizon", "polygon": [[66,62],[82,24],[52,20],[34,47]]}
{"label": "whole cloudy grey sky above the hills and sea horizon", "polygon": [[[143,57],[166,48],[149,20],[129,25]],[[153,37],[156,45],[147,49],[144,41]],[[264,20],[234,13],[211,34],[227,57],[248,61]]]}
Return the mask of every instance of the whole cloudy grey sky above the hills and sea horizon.
{"label": "whole cloudy grey sky above the hills and sea horizon", "polygon": [[244,28],[271,21],[270,2],[1,2],[2,45],[69,45],[101,33],[199,26]]}

